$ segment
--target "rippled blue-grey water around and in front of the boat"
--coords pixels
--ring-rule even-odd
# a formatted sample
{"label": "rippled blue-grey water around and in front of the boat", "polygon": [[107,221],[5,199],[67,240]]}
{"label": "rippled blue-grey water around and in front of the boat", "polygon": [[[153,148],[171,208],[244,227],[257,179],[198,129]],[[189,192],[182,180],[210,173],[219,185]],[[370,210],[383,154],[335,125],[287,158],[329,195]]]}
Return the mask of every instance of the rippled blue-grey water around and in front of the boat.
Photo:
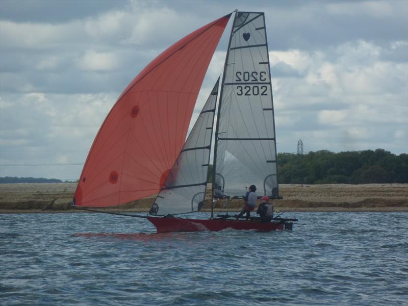
{"label": "rippled blue-grey water around and in front of the boat", "polygon": [[106,214],[0,215],[0,304],[407,305],[408,213],[286,215],[293,232],[169,234]]}

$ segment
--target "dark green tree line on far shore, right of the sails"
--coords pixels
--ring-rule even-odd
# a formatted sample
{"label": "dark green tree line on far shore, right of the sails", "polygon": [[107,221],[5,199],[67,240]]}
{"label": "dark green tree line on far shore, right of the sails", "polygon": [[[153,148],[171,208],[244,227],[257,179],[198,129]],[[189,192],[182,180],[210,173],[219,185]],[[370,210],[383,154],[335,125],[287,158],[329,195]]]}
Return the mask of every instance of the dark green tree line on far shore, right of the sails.
{"label": "dark green tree line on far shore, right of the sails", "polygon": [[[384,149],[278,153],[279,184],[408,183],[408,154]],[[212,183],[213,165],[208,171]]]}

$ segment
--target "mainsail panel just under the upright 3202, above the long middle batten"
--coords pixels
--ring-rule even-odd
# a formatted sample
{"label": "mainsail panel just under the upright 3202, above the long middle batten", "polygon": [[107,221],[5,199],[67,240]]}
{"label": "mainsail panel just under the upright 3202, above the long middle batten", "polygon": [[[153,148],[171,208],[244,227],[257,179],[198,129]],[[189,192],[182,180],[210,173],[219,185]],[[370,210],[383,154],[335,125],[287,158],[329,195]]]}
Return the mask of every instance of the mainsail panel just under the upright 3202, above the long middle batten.
{"label": "mainsail panel just under the upright 3202, above the long middle batten", "polygon": [[260,96],[238,95],[235,85],[225,85],[218,137],[274,138],[272,114],[266,113],[263,105],[265,103],[262,103]]}

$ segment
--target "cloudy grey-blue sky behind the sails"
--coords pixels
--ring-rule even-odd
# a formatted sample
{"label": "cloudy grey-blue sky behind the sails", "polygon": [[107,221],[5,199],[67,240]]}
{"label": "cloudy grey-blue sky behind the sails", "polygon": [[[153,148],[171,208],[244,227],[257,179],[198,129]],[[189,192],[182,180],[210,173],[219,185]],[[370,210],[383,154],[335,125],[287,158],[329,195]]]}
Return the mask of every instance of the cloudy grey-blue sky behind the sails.
{"label": "cloudy grey-blue sky behind the sails", "polygon": [[[408,153],[408,1],[0,1],[0,176],[77,180],[109,110],[171,44],[265,12],[278,152]],[[226,55],[231,21],[197,99]],[[192,126],[192,124],[190,124]]]}

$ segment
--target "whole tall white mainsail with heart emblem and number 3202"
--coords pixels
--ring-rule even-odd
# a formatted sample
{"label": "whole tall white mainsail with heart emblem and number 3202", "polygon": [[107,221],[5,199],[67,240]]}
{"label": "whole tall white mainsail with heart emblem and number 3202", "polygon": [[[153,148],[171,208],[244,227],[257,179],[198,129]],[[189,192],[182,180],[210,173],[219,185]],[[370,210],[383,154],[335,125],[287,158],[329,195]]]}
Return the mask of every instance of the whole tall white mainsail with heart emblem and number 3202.
{"label": "whole tall white mainsail with heart emblem and number 3202", "polygon": [[228,45],[215,139],[214,196],[251,184],[278,197],[272,85],[263,13],[238,12]]}

